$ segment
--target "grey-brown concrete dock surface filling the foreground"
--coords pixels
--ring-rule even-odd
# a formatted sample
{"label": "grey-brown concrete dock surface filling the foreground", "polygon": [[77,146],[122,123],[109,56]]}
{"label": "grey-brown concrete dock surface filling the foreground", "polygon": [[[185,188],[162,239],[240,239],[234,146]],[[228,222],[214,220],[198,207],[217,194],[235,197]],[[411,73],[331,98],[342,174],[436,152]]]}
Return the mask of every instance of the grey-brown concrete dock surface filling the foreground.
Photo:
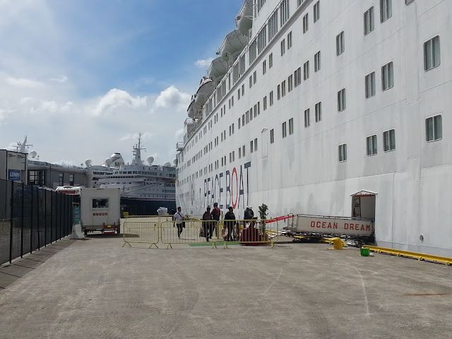
{"label": "grey-brown concrete dock surface filling the foreground", "polygon": [[0,338],[452,338],[452,266],[330,244],[62,239],[0,267]]}

